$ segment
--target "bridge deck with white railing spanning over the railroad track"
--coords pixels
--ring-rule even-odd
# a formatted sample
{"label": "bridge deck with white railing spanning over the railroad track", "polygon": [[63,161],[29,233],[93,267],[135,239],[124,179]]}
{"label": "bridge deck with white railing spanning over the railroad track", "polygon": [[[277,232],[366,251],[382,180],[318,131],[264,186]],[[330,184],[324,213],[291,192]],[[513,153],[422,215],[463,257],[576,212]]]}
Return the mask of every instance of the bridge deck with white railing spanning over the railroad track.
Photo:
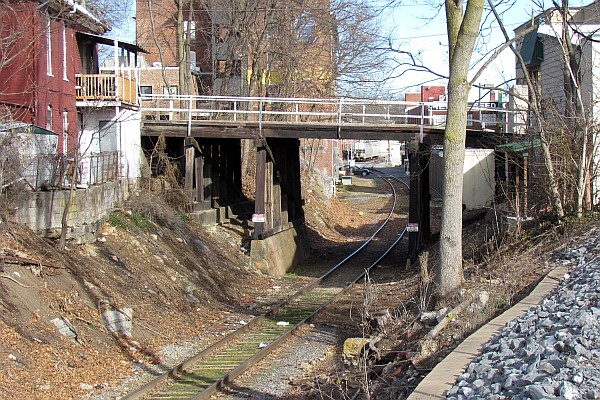
{"label": "bridge deck with white railing spanning over the railroad track", "polygon": [[[197,138],[417,139],[441,143],[445,102],[355,99],[276,99],[222,96],[142,97],[142,135]],[[472,108],[470,111],[474,111]],[[471,119],[470,139],[497,140],[510,111],[492,113],[496,123]],[[484,111],[481,111],[484,112]],[[441,114],[440,114],[441,113]]]}

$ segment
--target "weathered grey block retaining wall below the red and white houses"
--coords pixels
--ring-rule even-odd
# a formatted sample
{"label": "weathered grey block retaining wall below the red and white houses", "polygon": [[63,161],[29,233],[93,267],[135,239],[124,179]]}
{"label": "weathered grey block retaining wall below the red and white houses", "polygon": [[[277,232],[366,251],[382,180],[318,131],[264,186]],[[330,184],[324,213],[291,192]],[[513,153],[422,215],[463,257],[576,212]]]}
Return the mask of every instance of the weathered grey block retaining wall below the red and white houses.
{"label": "weathered grey block retaining wall below the red and white houses", "polygon": [[[69,191],[30,192],[17,207],[12,219],[50,238],[60,236],[61,220]],[[93,241],[108,214],[123,205],[129,196],[126,179],[76,189],[67,215],[67,239],[78,243]]]}

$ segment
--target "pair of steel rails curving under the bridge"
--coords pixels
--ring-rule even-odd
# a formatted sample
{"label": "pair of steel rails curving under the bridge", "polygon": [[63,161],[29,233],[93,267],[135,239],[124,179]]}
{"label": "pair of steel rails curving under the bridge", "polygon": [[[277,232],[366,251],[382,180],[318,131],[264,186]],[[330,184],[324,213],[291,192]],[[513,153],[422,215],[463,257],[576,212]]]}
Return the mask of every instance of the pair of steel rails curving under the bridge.
{"label": "pair of steel rails curving under the bridge", "polygon": [[[378,171],[378,172],[381,173],[381,171]],[[297,302],[303,295],[306,295],[306,294],[310,293],[311,291],[316,290],[316,288],[319,287],[336,270],[338,270],[339,267],[341,267],[342,265],[347,263],[350,259],[352,259],[354,256],[359,254],[369,243],[371,243],[374,240],[374,238],[377,236],[377,234],[379,234],[381,232],[381,230],[391,220],[392,216],[394,215],[394,211],[395,211],[396,204],[397,204],[396,189],[395,189],[394,185],[392,184],[392,182],[389,180],[391,176],[385,177],[383,175],[383,173],[381,173],[381,175],[379,177],[384,179],[384,181],[386,181],[391,187],[391,191],[393,194],[392,207],[391,207],[391,210],[388,213],[386,219],[381,224],[381,226],[361,246],[359,246],[350,255],[345,257],[342,261],[340,261],[337,265],[335,265],[333,268],[331,268],[325,274],[323,274],[319,278],[316,278],[311,283],[309,283],[308,285],[306,285],[303,288],[301,288],[300,290],[298,290],[295,294],[288,297],[286,300],[282,301],[278,305],[274,306],[268,312],[255,317],[254,319],[252,319],[250,322],[248,322],[243,327],[237,329],[236,331],[232,332],[231,334],[227,335],[226,337],[220,339],[218,342],[212,344],[211,346],[207,347],[206,349],[202,350],[201,352],[197,353],[196,355],[194,355],[194,356],[188,358],[187,360],[183,361],[182,363],[178,364],[170,371],[163,373],[162,375],[154,378],[153,380],[151,380],[148,383],[144,384],[143,386],[139,387],[135,391],[127,394],[125,397],[123,397],[123,400],[133,400],[133,399],[141,398],[142,396],[145,396],[148,393],[150,393],[153,389],[157,388],[160,384],[166,383],[168,380],[177,381],[177,379],[181,378],[181,377],[184,377],[184,379],[185,379],[185,376],[187,373],[186,370],[189,367],[193,366],[194,364],[199,363],[202,359],[206,359],[211,354],[216,353],[217,350],[220,350],[227,345],[230,345],[230,347],[228,349],[232,349],[237,344],[240,344],[240,343],[243,344],[242,341],[238,342],[238,340],[241,340],[241,338],[243,338],[244,335],[249,335],[250,333],[252,333],[253,329],[260,328],[261,324],[267,325],[267,327],[268,327],[269,322],[272,323],[274,321],[273,318],[276,316],[279,316],[280,313],[285,310],[285,307],[290,308],[289,311],[290,311],[290,315],[291,315],[292,314],[291,312],[294,311],[293,303]],[[394,177],[391,177],[391,178],[396,179],[397,181],[401,182],[405,186],[408,186],[402,180],[399,180]],[[253,355],[250,355],[247,358],[245,358],[244,360],[242,360],[241,363],[238,363],[237,365],[232,365],[231,368],[229,369],[229,372],[225,373],[220,378],[212,379],[213,383],[207,387],[201,388],[200,385],[203,383],[201,381],[201,379],[197,379],[196,381],[193,381],[193,378],[190,377],[189,380],[192,381],[191,385],[195,386],[194,391],[196,394],[183,395],[182,397],[173,397],[172,395],[168,395],[168,398],[208,399],[212,394],[216,393],[219,389],[223,388],[228,383],[232,382],[239,375],[241,375],[242,373],[247,371],[252,365],[256,364],[257,362],[262,360],[264,357],[266,357],[269,353],[271,353],[273,350],[275,350],[279,345],[281,345],[285,340],[287,340],[292,334],[294,334],[297,330],[299,330],[304,324],[306,324],[307,322],[310,322],[314,318],[314,316],[316,314],[318,314],[324,307],[326,307],[327,305],[336,301],[343,294],[345,294],[347,290],[349,290],[356,282],[358,282],[360,279],[362,279],[374,266],[376,266],[400,242],[400,240],[402,240],[402,238],[405,236],[405,233],[406,233],[406,228],[402,231],[402,233],[400,233],[398,235],[396,240],[390,246],[388,246],[387,249],[377,258],[377,260],[375,260],[373,263],[371,263],[368,267],[365,267],[363,272],[360,273],[353,281],[351,281],[349,284],[347,283],[345,285],[345,287],[341,288],[335,295],[328,298],[325,303],[318,305],[315,309],[308,308],[309,311],[307,312],[307,314],[301,315],[300,320],[295,321],[294,325],[291,328],[289,328],[289,327],[282,328],[281,332],[278,332],[276,329],[274,330],[275,327],[271,327],[270,329],[274,330],[276,332],[277,336],[275,338],[273,338],[273,340],[270,341],[270,343],[268,345],[266,345],[266,347],[258,349],[257,351],[255,351],[255,353]],[[260,333],[261,333],[261,331],[258,332],[258,334],[260,334]],[[188,375],[188,376],[190,376],[190,375]],[[166,398],[166,397],[161,397],[160,395],[156,395],[151,398]]]}

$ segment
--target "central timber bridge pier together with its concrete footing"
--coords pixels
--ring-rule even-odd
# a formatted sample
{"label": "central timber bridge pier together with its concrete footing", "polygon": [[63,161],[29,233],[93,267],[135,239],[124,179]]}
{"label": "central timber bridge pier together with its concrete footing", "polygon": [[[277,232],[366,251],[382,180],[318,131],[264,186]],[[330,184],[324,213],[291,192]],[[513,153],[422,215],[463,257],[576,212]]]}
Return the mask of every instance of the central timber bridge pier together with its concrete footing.
{"label": "central timber bridge pier together with its concrete footing", "polygon": [[256,196],[250,261],[254,268],[281,276],[310,253],[300,186],[300,142],[256,142]]}

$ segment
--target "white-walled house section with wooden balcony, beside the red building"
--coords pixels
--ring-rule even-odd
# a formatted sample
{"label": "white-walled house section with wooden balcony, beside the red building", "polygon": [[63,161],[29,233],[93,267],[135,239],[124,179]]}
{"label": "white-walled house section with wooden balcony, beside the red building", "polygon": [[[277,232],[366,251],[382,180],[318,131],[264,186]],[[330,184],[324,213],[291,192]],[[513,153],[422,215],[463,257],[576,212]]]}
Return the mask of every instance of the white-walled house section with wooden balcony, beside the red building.
{"label": "white-walled house section with wooden balcony, beside the red building", "polygon": [[79,184],[114,178],[136,180],[141,165],[141,112],[138,97],[137,45],[86,34],[105,46],[104,67],[77,76],[77,109],[81,157]]}

